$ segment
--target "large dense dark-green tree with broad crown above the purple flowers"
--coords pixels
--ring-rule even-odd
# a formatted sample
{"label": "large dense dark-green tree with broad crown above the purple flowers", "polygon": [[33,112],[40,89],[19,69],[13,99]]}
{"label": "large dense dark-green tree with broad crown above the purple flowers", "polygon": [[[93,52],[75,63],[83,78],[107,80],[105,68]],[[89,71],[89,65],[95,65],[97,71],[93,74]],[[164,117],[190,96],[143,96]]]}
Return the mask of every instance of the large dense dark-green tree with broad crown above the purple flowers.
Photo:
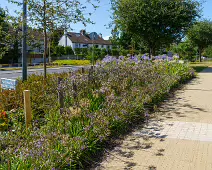
{"label": "large dense dark-green tree with broad crown above the purple flowers", "polygon": [[199,17],[197,0],[111,0],[117,29],[142,39],[155,55],[161,45],[179,41]]}

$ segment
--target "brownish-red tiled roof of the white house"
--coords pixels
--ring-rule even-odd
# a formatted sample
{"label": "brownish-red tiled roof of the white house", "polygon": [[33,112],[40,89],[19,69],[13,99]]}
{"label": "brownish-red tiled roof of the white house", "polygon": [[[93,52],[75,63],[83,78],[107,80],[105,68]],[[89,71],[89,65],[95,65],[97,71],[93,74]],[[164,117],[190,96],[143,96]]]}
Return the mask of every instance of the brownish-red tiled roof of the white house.
{"label": "brownish-red tiled roof of the white house", "polygon": [[67,35],[73,43],[112,45],[109,40],[104,40],[99,35],[95,40],[91,40],[88,34],[68,32]]}

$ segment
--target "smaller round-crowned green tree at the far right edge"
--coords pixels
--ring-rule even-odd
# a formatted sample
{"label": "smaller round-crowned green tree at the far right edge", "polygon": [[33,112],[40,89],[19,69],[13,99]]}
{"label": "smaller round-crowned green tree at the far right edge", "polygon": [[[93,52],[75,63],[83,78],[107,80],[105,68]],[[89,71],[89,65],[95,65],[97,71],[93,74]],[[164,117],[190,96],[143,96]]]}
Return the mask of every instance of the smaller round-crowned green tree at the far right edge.
{"label": "smaller round-crowned green tree at the far right edge", "polygon": [[198,47],[201,62],[203,50],[212,45],[212,22],[208,20],[197,22],[189,29],[188,38]]}

